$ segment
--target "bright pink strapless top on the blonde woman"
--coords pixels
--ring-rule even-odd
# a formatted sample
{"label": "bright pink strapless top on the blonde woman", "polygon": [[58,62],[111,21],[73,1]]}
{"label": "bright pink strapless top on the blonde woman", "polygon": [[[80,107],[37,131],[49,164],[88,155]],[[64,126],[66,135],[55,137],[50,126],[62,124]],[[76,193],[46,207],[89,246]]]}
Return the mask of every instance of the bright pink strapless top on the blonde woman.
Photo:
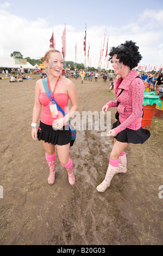
{"label": "bright pink strapless top on the blonde woman", "polygon": [[[69,97],[65,93],[56,93],[54,94],[54,99],[58,103],[58,105],[61,107],[61,109],[67,114],[67,105]],[[64,117],[64,115],[58,110],[59,117],[54,117],[51,115],[51,111],[49,108],[49,103],[51,102],[47,96],[46,93],[40,93],[39,100],[41,105],[43,106],[42,112],[41,112],[41,122],[43,124],[52,125],[53,121]],[[66,125],[66,124],[65,124]]]}

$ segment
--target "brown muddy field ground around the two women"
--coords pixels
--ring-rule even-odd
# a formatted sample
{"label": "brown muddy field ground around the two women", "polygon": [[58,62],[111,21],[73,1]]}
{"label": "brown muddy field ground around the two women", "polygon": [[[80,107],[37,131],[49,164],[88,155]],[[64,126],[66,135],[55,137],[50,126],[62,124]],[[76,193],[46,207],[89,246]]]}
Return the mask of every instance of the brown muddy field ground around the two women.
{"label": "brown muddy field ground around the two women", "polygon": [[[78,130],[70,150],[76,184],[69,185],[57,156],[55,184],[50,186],[42,144],[31,137],[40,76],[33,78],[0,80],[0,245],[162,245],[163,119],[153,119],[146,143],[128,147],[127,174],[116,174],[104,193],[96,186],[108,168],[113,139],[101,136],[102,131]],[[71,79],[81,117],[115,99],[102,77],[83,84],[80,78]],[[111,123],[115,112],[111,108]]]}

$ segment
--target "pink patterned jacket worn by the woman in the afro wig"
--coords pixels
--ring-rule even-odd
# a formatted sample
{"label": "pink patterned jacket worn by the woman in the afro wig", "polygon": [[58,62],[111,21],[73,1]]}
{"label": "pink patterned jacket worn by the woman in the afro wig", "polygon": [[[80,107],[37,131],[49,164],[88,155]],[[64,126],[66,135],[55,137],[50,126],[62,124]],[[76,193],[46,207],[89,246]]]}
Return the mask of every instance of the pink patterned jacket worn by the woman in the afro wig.
{"label": "pink patterned jacket worn by the woman in the afro wig", "polygon": [[[109,107],[117,107],[120,114],[121,124],[114,129],[116,134],[126,128],[136,131],[141,127],[145,86],[140,78],[136,78],[137,76],[137,71],[131,70],[123,80],[122,77],[118,78],[114,83],[114,92],[120,104],[117,107],[117,100],[106,103]],[[118,97],[120,89],[124,90]]]}

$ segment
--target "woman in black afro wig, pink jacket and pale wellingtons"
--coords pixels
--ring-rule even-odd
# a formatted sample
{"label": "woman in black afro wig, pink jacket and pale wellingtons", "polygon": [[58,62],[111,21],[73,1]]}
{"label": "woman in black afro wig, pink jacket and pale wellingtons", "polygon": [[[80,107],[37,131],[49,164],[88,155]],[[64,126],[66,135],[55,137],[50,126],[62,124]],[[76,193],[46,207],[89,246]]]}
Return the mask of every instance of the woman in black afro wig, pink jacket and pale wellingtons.
{"label": "woman in black afro wig, pink jacket and pale wellingtons", "polygon": [[124,150],[130,143],[144,143],[150,132],[142,129],[142,103],[145,86],[138,76],[136,68],[142,59],[139,47],[133,41],[126,41],[117,47],[112,47],[109,53],[115,74],[120,75],[114,82],[116,100],[106,103],[102,111],[105,114],[109,107],[117,107],[117,121],[112,125],[108,136],[114,137],[109,166],[103,182],[96,187],[104,192],[110,186],[111,179],[116,173],[127,172],[127,159]]}

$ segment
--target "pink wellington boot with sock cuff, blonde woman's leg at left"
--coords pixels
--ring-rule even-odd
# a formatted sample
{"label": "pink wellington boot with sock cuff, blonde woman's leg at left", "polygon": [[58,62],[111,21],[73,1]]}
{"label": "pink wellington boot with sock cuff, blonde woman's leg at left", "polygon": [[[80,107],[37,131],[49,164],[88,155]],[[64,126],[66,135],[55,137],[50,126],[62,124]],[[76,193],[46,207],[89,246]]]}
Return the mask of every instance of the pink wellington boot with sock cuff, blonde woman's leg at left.
{"label": "pink wellington boot with sock cuff, blonde woman's leg at left", "polygon": [[53,185],[55,181],[55,153],[52,156],[45,153],[45,157],[49,166],[48,184]]}

